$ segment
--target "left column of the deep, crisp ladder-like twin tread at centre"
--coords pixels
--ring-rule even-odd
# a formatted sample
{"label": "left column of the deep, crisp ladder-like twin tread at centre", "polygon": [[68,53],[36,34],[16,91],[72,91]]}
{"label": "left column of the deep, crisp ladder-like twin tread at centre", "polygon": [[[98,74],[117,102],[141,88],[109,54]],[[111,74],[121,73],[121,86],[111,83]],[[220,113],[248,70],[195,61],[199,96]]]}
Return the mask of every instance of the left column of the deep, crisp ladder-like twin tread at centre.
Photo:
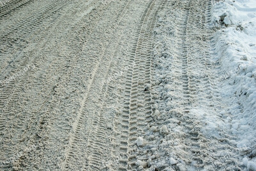
{"label": "left column of the deep, crisp ladder-like twin tread at centre", "polygon": [[[128,168],[127,162],[128,159],[135,158],[135,156],[127,156],[128,148],[129,148],[129,136],[133,135],[135,132],[130,132],[132,129],[136,129],[136,125],[134,126],[136,120],[136,117],[132,116],[133,114],[136,114],[136,112],[130,111],[130,105],[137,105],[136,103],[130,104],[130,98],[136,98],[136,95],[132,95],[136,92],[137,88],[132,87],[132,76],[138,74],[137,72],[133,71],[133,65],[135,63],[134,57],[136,53],[137,43],[139,42],[140,32],[142,30],[142,25],[144,23],[144,20],[149,14],[150,8],[152,10],[152,6],[154,5],[154,1],[150,1],[146,10],[144,11],[142,18],[140,19],[138,29],[136,32],[136,36],[134,38],[134,45],[132,47],[132,50],[128,52],[128,55],[126,56],[126,60],[128,61],[127,64],[124,65],[124,70],[127,70],[127,73],[125,75],[124,84],[121,84],[121,88],[125,87],[124,91],[120,92],[119,97],[120,102],[123,101],[123,104],[120,104],[120,107],[117,108],[117,116],[118,119],[115,121],[115,127],[114,127],[114,137],[115,140],[113,142],[114,146],[114,158],[118,161],[116,162],[116,167],[118,170],[126,170]],[[122,93],[122,94],[121,94]],[[135,107],[136,108],[136,107]]]}

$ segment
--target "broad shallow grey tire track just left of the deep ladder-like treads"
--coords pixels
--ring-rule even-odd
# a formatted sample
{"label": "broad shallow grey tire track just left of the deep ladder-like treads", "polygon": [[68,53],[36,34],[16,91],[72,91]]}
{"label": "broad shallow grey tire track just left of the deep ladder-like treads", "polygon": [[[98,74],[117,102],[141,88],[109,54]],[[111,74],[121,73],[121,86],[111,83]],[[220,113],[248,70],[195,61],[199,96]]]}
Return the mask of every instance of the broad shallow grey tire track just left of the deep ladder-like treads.
{"label": "broad shallow grey tire track just left of the deep ladder-like treads", "polygon": [[[132,6],[130,5],[129,1],[122,2],[121,4],[116,4],[116,5],[121,5],[122,8],[120,8],[120,11],[119,10],[115,11],[116,7],[112,7],[112,6],[108,6],[106,8],[113,10],[113,12],[117,12],[117,14],[113,15],[113,14],[106,13],[103,16],[106,16],[106,15],[116,16],[116,18],[109,17],[108,19],[111,19],[111,22],[114,21],[114,26],[116,27],[116,29],[118,29],[120,26],[122,26],[123,20],[121,19],[124,16],[127,17],[128,15],[126,14],[127,13],[126,8],[131,9]],[[92,33],[91,42],[95,41],[95,44],[98,43],[97,39],[95,39],[96,34],[101,35],[103,33],[102,37],[99,37],[100,40],[103,40],[103,38],[105,38],[104,37],[105,32],[107,32],[110,35],[119,33],[119,30],[113,30],[113,28],[111,28],[110,26],[108,27],[110,27],[109,29],[112,29],[112,30],[101,30],[101,28],[103,28],[103,26],[106,25],[105,22],[109,23],[108,20],[106,21],[103,20],[97,26],[99,28],[95,29],[95,32]],[[122,32],[120,32],[121,35],[122,35]],[[114,35],[114,37],[115,36],[116,35]],[[120,42],[121,38],[122,38],[121,36],[117,37],[117,39],[115,39],[116,43]],[[106,117],[106,112],[108,112],[108,108],[111,106],[111,103],[115,102],[115,100],[114,102],[112,102],[113,100],[111,100],[111,97],[109,95],[113,94],[113,89],[116,87],[116,85],[115,86],[111,85],[112,83],[110,82],[110,80],[112,79],[112,75],[114,75],[114,77],[120,77],[120,73],[119,73],[120,71],[117,68],[122,63],[122,60],[121,60],[122,58],[120,57],[118,58],[118,55],[117,55],[117,54],[120,55],[120,51],[118,51],[118,49],[120,48],[120,45],[114,44],[115,41],[113,42],[114,47],[111,47],[109,45],[101,49],[101,51],[103,51],[102,57],[100,58],[98,66],[95,67],[96,68],[95,75],[92,73],[92,76],[91,76],[92,87],[89,87],[88,90],[86,90],[88,93],[88,96],[86,96],[85,94],[85,98],[83,100],[82,107],[80,109],[80,111],[85,111],[86,113],[81,112],[81,114],[78,115],[77,124],[75,125],[75,128],[74,128],[74,131],[75,131],[74,137],[76,140],[70,141],[70,145],[67,151],[67,158],[65,160],[65,164],[63,164],[63,167],[62,167],[63,170],[65,169],[65,166],[68,167],[73,165],[72,168],[79,167],[79,166],[74,166],[74,164],[70,164],[70,163],[78,163],[78,161],[81,162],[81,158],[79,157],[76,158],[74,156],[84,155],[84,164],[82,167],[86,170],[104,169],[104,167],[106,167],[107,161],[109,160],[108,158],[111,152],[109,151],[110,143],[108,143],[108,141],[109,139],[112,138],[111,136],[112,133],[110,133],[112,126],[110,126],[109,128],[109,124],[112,125],[111,123],[113,120],[112,118]],[[91,45],[88,44],[87,46],[89,48]],[[104,44],[101,44],[101,47],[104,47],[104,46],[105,46]],[[104,74],[102,75],[102,73]],[[111,111],[111,112],[113,113],[114,111]],[[84,137],[84,138],[81,138],[81,137]],[[78,141],[79,139],[80,141]],[[81,141],[81,139],[85,139],[85,141]],[[83,154],[78,150],[83,147],[86,147],[85,149],[86,154]],[[77,162],[75,160],[77,160]],[[67,169],[71,169],[71,167],[68,167]]]}

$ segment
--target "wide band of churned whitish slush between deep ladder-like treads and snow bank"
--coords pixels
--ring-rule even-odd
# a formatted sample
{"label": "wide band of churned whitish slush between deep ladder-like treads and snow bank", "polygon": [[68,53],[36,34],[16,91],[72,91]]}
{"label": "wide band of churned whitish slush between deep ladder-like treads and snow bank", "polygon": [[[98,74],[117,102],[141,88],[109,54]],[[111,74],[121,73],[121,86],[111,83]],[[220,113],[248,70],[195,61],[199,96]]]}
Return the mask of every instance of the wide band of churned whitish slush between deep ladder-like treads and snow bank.
{"label": "wide band of churned whitish slush between deep ladder-like treads and snow bank", "polygon": [[[160,91],[160,98],[156,98],[156,101],[161,106],[158,109],[161,115],[154,117],[154,121],[149,123],[148,128],[151,127],[151,133],[149,134],[148,132],[150,136],[147,137],[152,144],[155,136],[160,136],[155,142],[163,142],[157,145],[149,143],[150,145],[148,145],[147,149],[147,152],[149,152],[148,156],[161,152],[166,153],[169,157],[171,155],[175,158],[175,161],[185,162],[185,167],[172,165],[171,168],[174,170],[185,168],[188,170],[192,168],[214,170],[218,166],[212,163],[216,162],[216,160],[221,160],[214,157],[215,152],[226,148],[232,149],[231,144],[227,143],[229,141],[228,137],[217,138],[205,135],[205,123],[203,123],[201,118],[199,119],[200,116],[195,114],[195,111],[198,112],[198,108],[201,110],[205,109],[206,112],[213,115],[218,115],[216,109],[221,109],[221,97],[219,97],[220,94],[214,83],[216,76],[214,70],[211,69],[215,66],[210,59],[212,54],[208,44],[212,34],[207,28],[207,22],[211,17],[212,1],[184,1],[183,3],[170,1],[170,3],[173,5],[172,10],[177,11],[168,13],[169,17],[178,17],[180,20],[177,19],[167,24],[167,26],[171,27],[169,30],[173,30],[172,32],[164,30],[164,34],[167,34],[168,38],[172,38],[171,44],[168,44],[170,43],[169,41],[164,44],[166,40],[160,39],[162,44],[157,43],[154,46],[156,52],[159,46],[162,48],[159,50],[162,54],[155,57],[156,69],[160,75],[160,79],[157,81],[159,86],[156,86],[156,91]],[[177,12],[180,15],[175,16]],[[169,46],[172,48],[169,48]],[[164,57],[167,58],[165,61],[170,57],[173,59],[170,69],[166,69],[166,66],[164,67],[164,65],[170,63],[165,63],[162,60],[164,59],[163,56],[165,56],[162,51],[167,53],[165,50],[168,52],[168,55]],[[156,61],[160,62],[157,63]],[[164,69],[161,67],[164,67]],[[164,75],[164,72],[169,70],[171,70],[170,78],[168,78],[169,74]],[[164,77],[161,77],[161,74]],[[154,90],[152,90],[152,94],[155,93]],[[180,95],[179,92],[183,92],[183,94]],[[167,106],[166,103],[168,103]],[[153,111],[156,111],[156,108],[153,108]],[[167,130],[164,132],[163,128],[166,128],[166,126]],[[180,130],[182,131],[179,132]],[[221,129],[218,130],[221,134],[224,133]],[[169,146],[169,143],[173,144]],[[212,147],[213,144],[218,145]],[[151,151],[150,148],[153,147],[157,148],[157,152]],[[167,151],[170,152],[165,152],[167,148]],[[212,152],[213,149],[215,152]],[[154,164],[155,158],[152,157],[150,159],[150,161],[153,160],[149,162],[150,165],[156,166]],[[222,159],[225,158],[226,156]],[[158,169],[164,169],[164,166],[160,165]]]}

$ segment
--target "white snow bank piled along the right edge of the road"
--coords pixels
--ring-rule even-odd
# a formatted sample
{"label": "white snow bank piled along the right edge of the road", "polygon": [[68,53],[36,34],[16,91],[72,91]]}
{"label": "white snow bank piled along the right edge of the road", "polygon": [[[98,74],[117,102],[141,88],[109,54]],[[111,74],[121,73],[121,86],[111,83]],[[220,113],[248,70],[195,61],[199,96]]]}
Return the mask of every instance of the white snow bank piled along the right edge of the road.
{"label": "white snow bank piled along the right edge of the road", "polygon": [[[224,0],[213,6],[211,27],[216,31],[212,43],[220,66],[221,95],[229,104],[231,136],[248,170],[255,170],[256,146],[256,4],[254,0]],[[221,113],[221,114],[224,114]]]}

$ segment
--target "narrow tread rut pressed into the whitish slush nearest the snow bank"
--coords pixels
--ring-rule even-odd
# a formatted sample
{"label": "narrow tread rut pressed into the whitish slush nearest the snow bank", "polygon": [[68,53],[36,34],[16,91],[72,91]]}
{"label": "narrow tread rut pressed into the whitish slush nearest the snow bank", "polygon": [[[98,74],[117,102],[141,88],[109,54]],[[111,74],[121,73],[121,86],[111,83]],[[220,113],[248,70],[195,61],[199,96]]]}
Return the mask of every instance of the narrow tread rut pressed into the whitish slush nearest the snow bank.
{"label": "narrow tread rut pressed into the whitish slush nearest the snow bank", "polygon": [[[205,15],[202,13],[201,8],[204,8],[204,1],[197,1],[191,4],[191,1],[186,4],[187,12],[184,17],[183,31],[181,32],[181,42],[182,42],[182,52],[181,52],[181,60],[182,60],[182,89],[184,90],[184,100],[187,102],[184,103],[184,109],[182,113],[188,113],[191,108],[191,103],[196,101],[198,98],[198,84],[199,79],[195,73],[194,66],[197,63],[196,55],[197,47],[195,47],[191,43],[191,39],[195,39],[195,30],[201,32],[201,29],[204,28],[204,24],[202,23],[202,17]],[[194,25],[196,21],[196,25]],[[194,31],[193,31],[194,30]],[[198,39],[199,37],[196,37]],[[197,41],[197,43],[201,44],[201,41]],[[200,56],[200,55],[199,55]],[[194,63],[195,61],[195,63]],[[203,134],[200,132],[200,127],[196,125],[200,125],[200,120],[192,120],[186,114],[172,112],[173,119],[180,120],[180,122],[185,122],[184,130],[187,130],[188,134],[185,134],[184,144],[187,145],[189,150],[185,150],[185,153],[190,158],[185,158],[184,161],[188,165],[193,165],[195,168],[204,167],[204,154],[205,149],[209,148],[205,145],[200,145],[201,141],[206,141]],[[183,115],[183,116],[182,116]],[[180,156],[181,157],[181,156]]]}

